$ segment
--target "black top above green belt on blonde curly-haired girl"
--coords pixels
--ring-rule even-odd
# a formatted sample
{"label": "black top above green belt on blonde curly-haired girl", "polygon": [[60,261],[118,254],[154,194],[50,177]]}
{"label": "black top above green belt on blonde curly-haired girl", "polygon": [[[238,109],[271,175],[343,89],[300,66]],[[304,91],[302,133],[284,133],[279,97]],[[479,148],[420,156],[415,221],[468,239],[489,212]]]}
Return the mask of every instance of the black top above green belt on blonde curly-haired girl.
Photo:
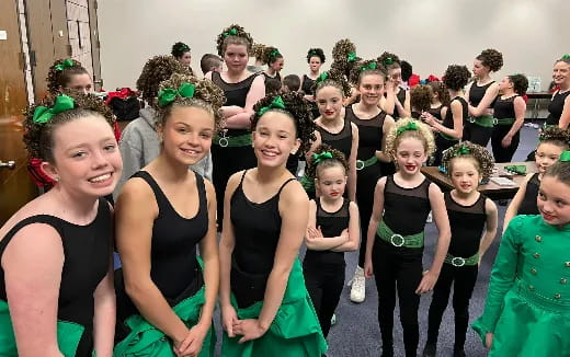
{"label": "black top above green belt on blonde curly-haired girl", "polygon": [[398,186],[394,175],[386,177],[383,220],[395,233],[411,235],[423,232],[432,209],[430,184],[430,180],[424,178],[417,187],[404,188]]}

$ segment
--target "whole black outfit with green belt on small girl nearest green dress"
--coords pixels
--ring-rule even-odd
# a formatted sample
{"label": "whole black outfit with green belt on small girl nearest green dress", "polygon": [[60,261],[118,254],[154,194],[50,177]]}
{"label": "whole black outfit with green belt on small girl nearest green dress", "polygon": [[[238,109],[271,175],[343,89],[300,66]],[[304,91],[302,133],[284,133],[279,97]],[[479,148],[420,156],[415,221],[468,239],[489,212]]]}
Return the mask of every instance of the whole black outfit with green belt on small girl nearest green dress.
{"label": "whole black outfit with green belt on small girl nearest green dress", "polygon": [[451,192],[444,194],[444,199],[452,228],[452,241],[433,289],[428,319],[428,344],[437,344],[442,316],[447,308],[453,284],[455,349],[463,350],[469,323],[469,300],[479,270],[479,244],[487,222],[487,197],[479,194],[479,199],[470,206],[463,206],[455,201]]}

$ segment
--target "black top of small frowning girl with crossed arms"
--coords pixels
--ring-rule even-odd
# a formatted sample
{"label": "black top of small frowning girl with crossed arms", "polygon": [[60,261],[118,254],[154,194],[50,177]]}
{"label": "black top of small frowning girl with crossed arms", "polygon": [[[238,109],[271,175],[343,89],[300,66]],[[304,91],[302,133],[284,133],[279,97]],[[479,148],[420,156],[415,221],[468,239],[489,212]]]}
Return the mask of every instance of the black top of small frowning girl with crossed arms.
{"label": "black top of small frowning girl with crossed arms", "polygon": [[[335,212],[328,212],[322,209],[320,198],[316,198],[317,204],[317,227],[321,228],[323,237],[339,237],[342,231],[349,228],[351,219],[349,206],[351,201],[343,198],[341,208]],[[333,251],[312,251],[307,249],[304,264],[311,267],[322,267],[323,265],[344,265],[344,252]]]}

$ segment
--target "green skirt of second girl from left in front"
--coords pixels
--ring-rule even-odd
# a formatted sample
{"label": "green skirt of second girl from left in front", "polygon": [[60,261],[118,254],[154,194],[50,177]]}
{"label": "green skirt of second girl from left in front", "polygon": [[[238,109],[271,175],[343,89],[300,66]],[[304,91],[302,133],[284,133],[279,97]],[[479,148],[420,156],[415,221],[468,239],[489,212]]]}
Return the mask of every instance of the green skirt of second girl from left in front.
{"label": "green skirt of second girl from left in front", "polygon": [[[184,321],[186,327],[194,326],[200,320],[202,306],[206,302],[205,287],[198,290],[194,296],[182,300],[173,310],[176,315]],[[141,315],[133,315],[125,321],[130,329],[130,333],[119,342],[113,352],[115,357],[174,357],[172,341],[168,338],[161,331],[152,326]],[[216,347],[216,334],[214,327],[210,327],[200,357],[214,356]]]}

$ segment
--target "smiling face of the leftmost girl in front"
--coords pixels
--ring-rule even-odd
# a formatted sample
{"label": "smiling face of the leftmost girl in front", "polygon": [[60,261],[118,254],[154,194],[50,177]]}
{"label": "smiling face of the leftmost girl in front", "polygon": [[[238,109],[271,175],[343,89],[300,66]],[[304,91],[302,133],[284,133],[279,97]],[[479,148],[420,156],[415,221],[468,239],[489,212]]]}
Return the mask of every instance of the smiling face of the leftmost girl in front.
{"label": "smiling face of the leftmost girl in front", "polygon": [[54,131],[54,163],[44,171],[71,196],[103,197],[113,192],[123,161],[113,128],[100,116],[86,116]]}

